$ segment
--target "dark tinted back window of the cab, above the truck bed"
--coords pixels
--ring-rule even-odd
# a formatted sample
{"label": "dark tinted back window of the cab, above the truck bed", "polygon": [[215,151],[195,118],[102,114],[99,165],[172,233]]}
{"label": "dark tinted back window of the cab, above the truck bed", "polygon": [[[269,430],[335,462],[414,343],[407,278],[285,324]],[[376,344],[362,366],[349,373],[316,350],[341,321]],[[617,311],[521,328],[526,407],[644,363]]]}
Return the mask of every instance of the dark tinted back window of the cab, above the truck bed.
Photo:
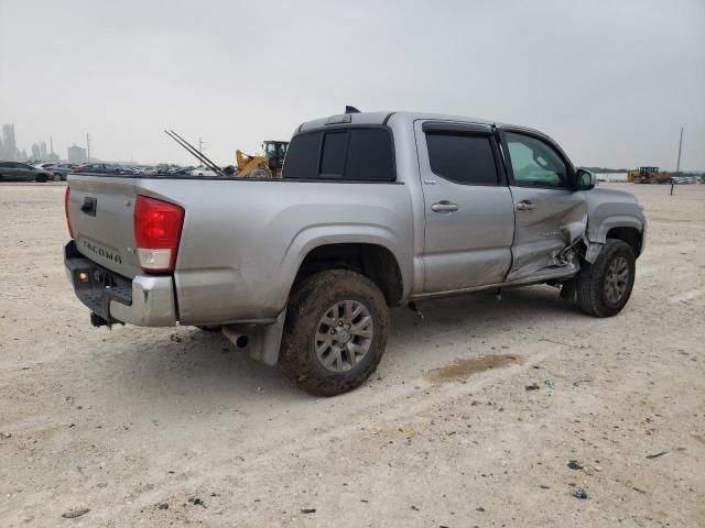
{"label": "dark tinted back window of the cab, above the truck bed", "polygon": [[393,182],[394,152],[387,129],[336,129],[295,136],[282,177]]}

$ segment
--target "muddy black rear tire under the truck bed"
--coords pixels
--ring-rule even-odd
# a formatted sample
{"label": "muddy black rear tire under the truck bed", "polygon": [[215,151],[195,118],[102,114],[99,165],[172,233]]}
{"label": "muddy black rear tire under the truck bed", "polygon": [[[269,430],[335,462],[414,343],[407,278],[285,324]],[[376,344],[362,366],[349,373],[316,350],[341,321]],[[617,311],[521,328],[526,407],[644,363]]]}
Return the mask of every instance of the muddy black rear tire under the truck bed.
{"label": "muddy black rear tire under the truck bed", "polygon": [[[360,319],[357,319],[357,323],[355,318],[349,319],[354,327],[349,332],[345,327],[338,331],[334,324],[329,326],[330,333],[336,331],[339,333],[328,339],[345,339],[339,338],[345,333],[347,340],[343,344],[336,342],[335,345],[330,345],[329,353],[337,353],[337,367],[333,364],[326,367],[316,352],[316,345],[321,343],[317,339],[321,336],[318,332],[322,328],[326,328],[324,317],[332,314],[332,310],[337,310],[336,307],[345,301],[351,301],[345,306],[354,306],[355,309],[364,307],[360,314],[366,314],[364,317],[369,317],[371,320],[364,331],[371,337],[354,336],[355,327],[360,323]],[[355,314],[351,315],[355,316]],[[327,332],[326,330],[325,333]],[[279,363],[292,381],[311,394],[335,396],[347,393],[362,385],[375,372],[387,348],[388,332],[387,304],[375,283],[358,273],[345,270],[323,271],[304,279],[292,292],[286,309]],[[359,343],[364,343],[366,352],[356,359],[356,352],[350,350],[351,346],[360,350]],[[333,346],[339,346],[339,349]]]}

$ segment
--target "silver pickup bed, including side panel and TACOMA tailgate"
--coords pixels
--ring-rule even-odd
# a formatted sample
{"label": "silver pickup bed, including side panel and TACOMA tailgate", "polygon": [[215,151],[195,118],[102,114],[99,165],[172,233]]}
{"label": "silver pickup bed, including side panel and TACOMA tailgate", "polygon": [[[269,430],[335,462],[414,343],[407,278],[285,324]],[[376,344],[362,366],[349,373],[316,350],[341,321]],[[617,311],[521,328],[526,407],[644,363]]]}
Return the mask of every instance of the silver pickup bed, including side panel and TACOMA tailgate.
{"label": "silver pickup bed, including side panel and TACOMA tailgate", "polygon": [[[145,274],[135,253],[137,197],[184,209],[172,274],[184,324],[275,318],[302,260],[327,240],[377,237],[412,261],[403,183],[70,175],[68,187],[76,250],[129,279]],[[91,200],[95,215],[82,210]]]}

